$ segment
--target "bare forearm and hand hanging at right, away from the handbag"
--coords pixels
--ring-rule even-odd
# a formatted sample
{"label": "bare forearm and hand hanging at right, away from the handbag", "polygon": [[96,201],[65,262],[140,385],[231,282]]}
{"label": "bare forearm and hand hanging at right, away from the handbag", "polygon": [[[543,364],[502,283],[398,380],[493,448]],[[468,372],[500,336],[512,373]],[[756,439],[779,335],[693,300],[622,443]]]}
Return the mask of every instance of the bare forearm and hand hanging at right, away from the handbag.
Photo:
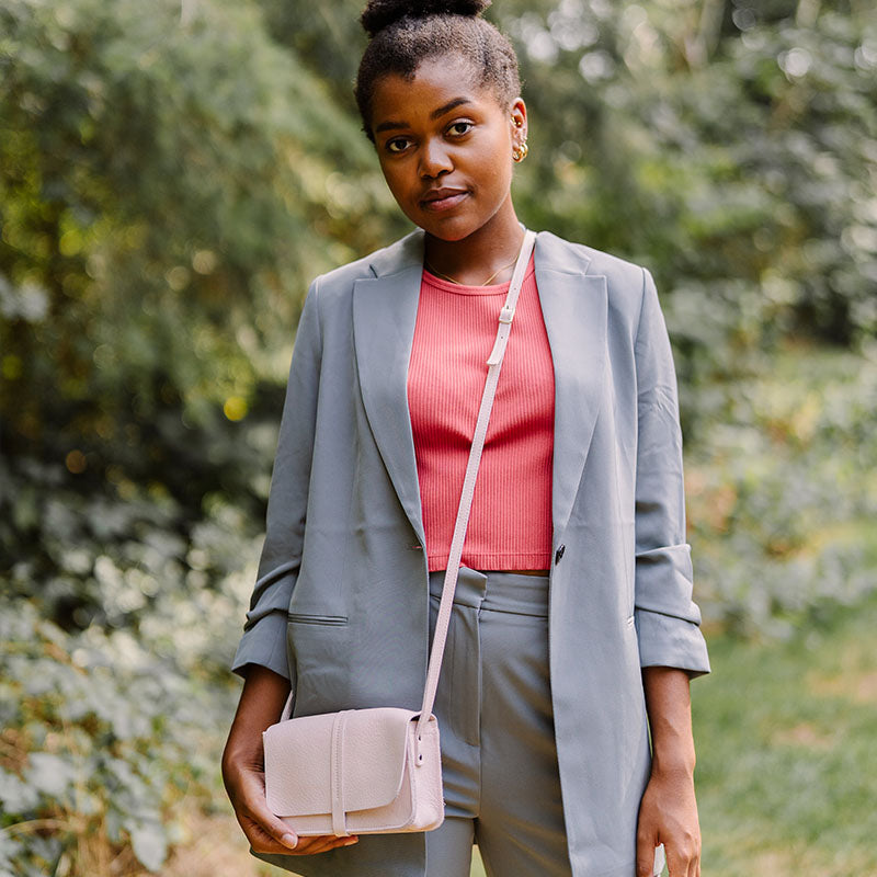
{"label": "bare forearm and hand hanging at right, away from the handbag", "polygon": [[664,845],[672,877],[699,877],[701,827],[694,797],[694,738],[688,674],[642,670],[651,731],[651,778],[639,807],[637,877],[651,877],[654,847]]}

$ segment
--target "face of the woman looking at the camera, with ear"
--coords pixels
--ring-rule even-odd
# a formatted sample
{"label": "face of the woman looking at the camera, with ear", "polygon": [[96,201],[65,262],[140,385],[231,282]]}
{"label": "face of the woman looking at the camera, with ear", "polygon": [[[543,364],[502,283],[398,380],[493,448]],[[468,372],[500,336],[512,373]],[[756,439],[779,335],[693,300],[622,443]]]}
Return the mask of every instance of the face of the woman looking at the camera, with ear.
{"label": "face of the woman looking at the camera, with ear", "polygon": [[475,84],[460,56],[430,58],[412,80],[381,77],[372,102],[380,168],[405,215],[442,240],[462,240],[512,210],[512,149],[526,107],[506,110]]}

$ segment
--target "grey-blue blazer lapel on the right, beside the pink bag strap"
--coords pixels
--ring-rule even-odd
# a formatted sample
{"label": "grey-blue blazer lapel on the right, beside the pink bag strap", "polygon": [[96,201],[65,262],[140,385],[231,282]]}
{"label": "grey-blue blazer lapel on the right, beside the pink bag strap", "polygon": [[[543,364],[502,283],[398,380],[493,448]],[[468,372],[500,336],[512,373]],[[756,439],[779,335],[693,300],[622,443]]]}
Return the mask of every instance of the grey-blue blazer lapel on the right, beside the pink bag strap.
{"label": "grey-blue blazer lapel on the right, beside the pink bag strap", "polygon": [[543,231],[536,240],[536,285],[555,368],[551,516],[555,546],[579,493],[600,407],[606,365],[606,278],[589,276],[590,258]]}

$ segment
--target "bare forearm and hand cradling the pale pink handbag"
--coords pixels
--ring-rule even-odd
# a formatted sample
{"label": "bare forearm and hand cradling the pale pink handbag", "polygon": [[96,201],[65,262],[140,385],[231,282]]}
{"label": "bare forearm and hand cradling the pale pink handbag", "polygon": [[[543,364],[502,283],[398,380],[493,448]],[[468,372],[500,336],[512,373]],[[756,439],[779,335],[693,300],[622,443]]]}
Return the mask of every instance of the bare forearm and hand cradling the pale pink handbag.
{"label": "bare forearm and hand cradling the pale pink handbag", "polygon": [[312,855],[356,843],[334,834],[298,838],[265,802],[262,731],[280,718],[289,683],[271,670],[251,665],[223,753],[223,781],[235,816],[257,853]]}

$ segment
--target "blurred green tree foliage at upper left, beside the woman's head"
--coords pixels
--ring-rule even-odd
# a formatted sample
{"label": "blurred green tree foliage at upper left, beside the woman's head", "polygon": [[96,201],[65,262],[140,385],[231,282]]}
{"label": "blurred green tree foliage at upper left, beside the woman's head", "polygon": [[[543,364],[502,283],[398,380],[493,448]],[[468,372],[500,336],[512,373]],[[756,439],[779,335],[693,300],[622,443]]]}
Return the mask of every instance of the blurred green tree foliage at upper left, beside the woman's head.
{"label": "blurred green tree foliage at upper left, beside the woman's head", "polygon": [[3,440],[175,492],[179,448],[235,463],[218,419],[285,376],[307,282],[377,246],[389,200],[254,7],[196,9],[0,11]]}

